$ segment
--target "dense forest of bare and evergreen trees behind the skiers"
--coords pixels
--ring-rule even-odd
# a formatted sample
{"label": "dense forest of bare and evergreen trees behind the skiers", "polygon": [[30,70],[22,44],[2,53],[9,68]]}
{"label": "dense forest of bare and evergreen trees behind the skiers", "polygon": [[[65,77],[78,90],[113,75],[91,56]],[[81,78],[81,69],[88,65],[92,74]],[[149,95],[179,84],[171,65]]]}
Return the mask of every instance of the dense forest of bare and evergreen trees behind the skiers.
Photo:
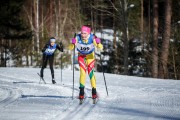
{"label": "dense forest of bare and evergreen trees behind the skiers", "polygon": [[179,11],[179,0],[1,0],[0,67],[41,67],[51,37],[64,45],[55,67],[71,66],[68,45],[88,25],[104,46],[96,71],[178,80]]}

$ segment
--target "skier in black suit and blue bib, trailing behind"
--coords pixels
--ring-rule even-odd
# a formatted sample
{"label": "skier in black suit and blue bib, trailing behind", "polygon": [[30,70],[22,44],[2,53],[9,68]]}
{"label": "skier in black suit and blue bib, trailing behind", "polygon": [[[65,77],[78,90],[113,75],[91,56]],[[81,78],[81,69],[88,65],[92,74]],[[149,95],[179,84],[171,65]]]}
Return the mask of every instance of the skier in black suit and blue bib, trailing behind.
{"label": "skier in black suit and blue bib, trailing behind", "polygon": [[55,43],[56,39],[54,37],[50,38],[48,43],[44,46],[42,49],[43,57],[42,57],[42,67],[40,71],[40,77],[43,78],[44,69],[47,66],[47,62],[49,61],[49,67],[51,70],[51,76],[52,76],[52,83],[55,84],[56,81],[54,79],[54,53],[56,49],[63,52],[63,44],[60,42],[60,44]]}

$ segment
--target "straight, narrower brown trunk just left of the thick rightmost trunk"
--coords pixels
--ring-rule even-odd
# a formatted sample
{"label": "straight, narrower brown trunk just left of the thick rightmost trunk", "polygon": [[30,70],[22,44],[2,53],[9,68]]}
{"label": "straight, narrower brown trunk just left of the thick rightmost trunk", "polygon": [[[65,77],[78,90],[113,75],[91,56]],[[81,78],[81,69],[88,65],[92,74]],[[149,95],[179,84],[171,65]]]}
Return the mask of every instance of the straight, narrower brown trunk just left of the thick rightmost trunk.
{"label": "straight, narrower brown trunk just left of the thick rightmost trunk", "polygon": [[158,0],[153,0],[153,53],[152,77],[158,77]]}

